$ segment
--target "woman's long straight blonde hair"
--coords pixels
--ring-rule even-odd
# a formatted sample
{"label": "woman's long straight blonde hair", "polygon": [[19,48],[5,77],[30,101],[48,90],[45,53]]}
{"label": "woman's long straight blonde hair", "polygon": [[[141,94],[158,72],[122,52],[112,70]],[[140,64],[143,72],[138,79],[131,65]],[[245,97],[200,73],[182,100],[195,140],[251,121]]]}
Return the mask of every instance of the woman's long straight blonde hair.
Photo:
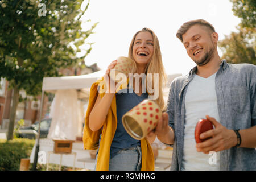
{"label": "woman's long straight blonde hair", "polygon": [[[159,74],[159,82],[157,82],[159,97],[156,98],[155,101],[162,109],[164,109],[163,84],[164,85],[166,84],[166,73],[165,73],[164,67],[163,67],[162,54],[161,54],[158,38],[150,28],[142,28],[141,31],[138,31],[133,36],[133,39],[131,40],[131,43],[130,43],[129,55],[128,56],[129,56],[130,59],[132,59],[134,61],[134,63],[136,63],[136,61],[134,60],[134,57],[133,57],[133,45],[134,45],[134,41],[135,41],[136,36],[140,32],[150,32],[151,35],[153,36],[154,53],[152,55],[152,59],[146,65],[145,74],[146,74],[146,76],[147,76],[148,73],[152,73],[153,75],[154,75],[154,73]],[[136,70],[137,70],[137,67],[136,67],[136,64],[134,64],[132,73],[135,73]],[[154,76],[152,76],[152,89],[155,89],[154,83],[155,83],[154,82]],[[154,93],[152,93],[152,94],[154,94]]]}

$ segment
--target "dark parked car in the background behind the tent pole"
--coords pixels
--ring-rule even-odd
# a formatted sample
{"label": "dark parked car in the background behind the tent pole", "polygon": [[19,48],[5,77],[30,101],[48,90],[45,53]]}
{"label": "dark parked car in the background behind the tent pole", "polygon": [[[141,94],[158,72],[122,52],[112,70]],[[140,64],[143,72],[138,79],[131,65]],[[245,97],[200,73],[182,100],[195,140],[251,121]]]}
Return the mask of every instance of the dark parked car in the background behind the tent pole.
{"label": "dark parked car in the background behind the tent pole", "polygon": [[[40,125],[40,138],[46,138],[49,132],[49,127],[51,126],[51,118],[45,118],[41,121]],[[22,127],[17,132],[17,137],[19,138],[29,138],[36,139],[38,135],[39,121],[35,122],[31,126]]]}

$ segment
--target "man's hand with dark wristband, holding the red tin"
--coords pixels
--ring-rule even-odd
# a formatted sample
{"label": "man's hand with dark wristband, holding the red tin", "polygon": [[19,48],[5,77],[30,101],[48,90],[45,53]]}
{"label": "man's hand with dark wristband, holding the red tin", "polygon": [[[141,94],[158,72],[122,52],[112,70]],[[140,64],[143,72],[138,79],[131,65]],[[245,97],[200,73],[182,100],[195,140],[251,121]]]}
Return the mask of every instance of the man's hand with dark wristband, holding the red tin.
{"label": "man's hand with dark wristband, holding the red tin", "polygon": [[233,130],[228,130],[222,126],[221,123],[217,122],[216,119],[206,115],[206,118],[213,123],[214,129],[205,131],[200,134],[200,139],[212,137],[204,142],[196,144],[197,152],[204,152],[209,154],[210,151],[222,151],[228,150],[229,148],[237,144],[237,135]]}

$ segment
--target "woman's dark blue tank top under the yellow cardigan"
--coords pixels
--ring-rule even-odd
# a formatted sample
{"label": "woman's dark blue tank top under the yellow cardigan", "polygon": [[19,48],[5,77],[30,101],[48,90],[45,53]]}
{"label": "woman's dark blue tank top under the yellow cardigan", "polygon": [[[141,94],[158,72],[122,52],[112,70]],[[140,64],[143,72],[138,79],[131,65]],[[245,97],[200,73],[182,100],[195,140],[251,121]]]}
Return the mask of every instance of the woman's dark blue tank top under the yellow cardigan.
{"label": "woman's dark blue tank top under the yellow cardigan", "polygon": [[119,90],[119,92],[115,94],[117,104],[117,130],[115,131],[110,147],[110,159],[113,158],[119,150],[136,147],[141,144],[140,140],[134,139],[127,133],[122,124],[122,116],[138,105],[139,102],[148,98],[148,94],[142,93],[141,96],[138,96],[134,93],[133,88],[126,88],[126,93],[121,93],[122,91],[123,90]]}

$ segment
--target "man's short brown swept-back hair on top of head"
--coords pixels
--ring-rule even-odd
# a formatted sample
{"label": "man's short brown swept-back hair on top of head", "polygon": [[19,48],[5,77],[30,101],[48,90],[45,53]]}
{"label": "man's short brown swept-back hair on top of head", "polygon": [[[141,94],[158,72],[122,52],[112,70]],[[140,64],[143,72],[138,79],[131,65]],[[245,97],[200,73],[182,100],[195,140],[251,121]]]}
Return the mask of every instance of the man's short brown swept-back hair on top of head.
{"label": "man's short brown swept-back hair on top of head", "polygon": [[215,28],[212,26],[212,24],[210,24],[209,22],[203,19],[196,19],[196,20],[183,23],[183,25],[177,31],[177,34],[176,34],[177,38],[179,38],[180,41],[183,42],[182,35],[185,34],[185,32],[187,32],[188,29],[194,26],[195,24],[199,24],[201,26],[207,27],[210,33],[215,32]]}

